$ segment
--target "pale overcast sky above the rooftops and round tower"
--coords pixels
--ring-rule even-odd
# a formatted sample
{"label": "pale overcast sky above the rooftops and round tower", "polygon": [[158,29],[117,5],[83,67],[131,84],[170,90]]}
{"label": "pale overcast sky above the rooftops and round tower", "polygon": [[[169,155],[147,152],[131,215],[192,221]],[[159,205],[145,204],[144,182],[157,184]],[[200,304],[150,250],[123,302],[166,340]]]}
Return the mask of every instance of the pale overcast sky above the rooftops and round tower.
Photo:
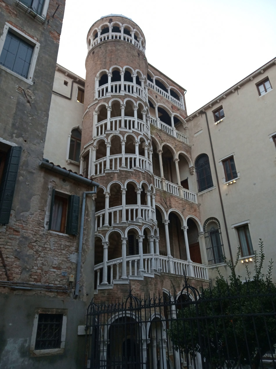
{"label": "pale overcast sky above the rooftops and round tower", "polygon": [[276,0],[66,0],[57,62],[85,78],[86,36],[123,14],[150,64],[184,87],[188,114],[276,56]]}

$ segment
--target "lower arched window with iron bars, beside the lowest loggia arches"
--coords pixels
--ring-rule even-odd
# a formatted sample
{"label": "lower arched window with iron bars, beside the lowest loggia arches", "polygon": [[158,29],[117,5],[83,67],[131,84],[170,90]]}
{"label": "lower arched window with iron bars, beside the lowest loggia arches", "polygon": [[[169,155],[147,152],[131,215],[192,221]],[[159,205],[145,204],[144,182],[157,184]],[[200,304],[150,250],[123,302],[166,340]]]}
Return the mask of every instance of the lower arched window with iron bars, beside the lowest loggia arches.
{"label": "lower arched window with iron bars, beside the lowest loggia arches", "polygon": [[216,218],[208,218],[203,226],[209,265],[223,262],[223,242],[220,222]]}

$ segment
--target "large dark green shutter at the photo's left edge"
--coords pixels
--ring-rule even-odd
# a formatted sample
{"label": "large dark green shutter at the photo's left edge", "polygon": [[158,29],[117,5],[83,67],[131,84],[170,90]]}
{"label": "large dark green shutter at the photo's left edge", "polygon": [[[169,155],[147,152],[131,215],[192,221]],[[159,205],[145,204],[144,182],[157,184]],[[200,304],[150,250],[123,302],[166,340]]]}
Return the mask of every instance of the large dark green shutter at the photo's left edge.
{"label": "large dark green shutter at the photo's left edge", "polygon": [[0,184],[0,224],[8,224],[10,221],[20,154],[20,146],[12,146],[7,153]]}

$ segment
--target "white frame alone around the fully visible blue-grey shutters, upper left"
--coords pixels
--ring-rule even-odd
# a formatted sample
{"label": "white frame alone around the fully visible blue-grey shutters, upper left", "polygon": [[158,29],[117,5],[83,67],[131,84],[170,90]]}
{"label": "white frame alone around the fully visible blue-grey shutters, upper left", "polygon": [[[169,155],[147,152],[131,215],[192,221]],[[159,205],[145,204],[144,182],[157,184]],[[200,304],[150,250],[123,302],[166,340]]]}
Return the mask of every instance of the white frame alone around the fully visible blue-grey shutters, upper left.
{"label": "white frame alone around the fully visible blue-grey shutters, upper left", "polygon": [[32,78],[34,76],[34,71],[35,71],[35,64],[36,64],[36,59],[38,57],[38,52],[39,52],[39,48],[40,48],[40,44],[39,42],[35,41],[33,38],[27,36],[24,32],[21,32],[20,30],[18,30],[17,28],[15,28],[13,25],[9,24],[9,23],[5,23],[4,25],[4,30],[3,30],[3,34],[0,37],[0,55],[1,52],[3,50],[3,46],[6,40],[6,36],[8,33],[8,30],[13,30],[13,34],[16,35],[20,35],[18,37],[25,39],[26,42],[28,42],[28,44],[34,46],[34,52],[32,53],[32,59],[31,59],[31,64],[30,64],[30,68],[29,68],[29,72],[28,72],[28,77],[22,77],[19,74],[13,72],[12,70],[4,67],[3,65],[0,65],[0,69],[4,69],[6,70],[6,72],[12,74],[13,76],[22,79],[23,81],[29,83],[30,85],[33,85],[34,82],[32,82]]}

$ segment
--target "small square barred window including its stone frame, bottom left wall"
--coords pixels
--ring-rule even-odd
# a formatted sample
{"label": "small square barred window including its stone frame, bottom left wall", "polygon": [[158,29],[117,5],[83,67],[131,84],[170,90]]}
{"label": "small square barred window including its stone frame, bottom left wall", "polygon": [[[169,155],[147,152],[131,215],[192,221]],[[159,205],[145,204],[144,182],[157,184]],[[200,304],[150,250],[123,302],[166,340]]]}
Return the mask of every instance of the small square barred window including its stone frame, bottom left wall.
{"label": "small square barred window including its stone frame, bottom left wall", "polygon": [[63,354],[66,323],[66,309],[35,309],[31,354],[33,356]]}

